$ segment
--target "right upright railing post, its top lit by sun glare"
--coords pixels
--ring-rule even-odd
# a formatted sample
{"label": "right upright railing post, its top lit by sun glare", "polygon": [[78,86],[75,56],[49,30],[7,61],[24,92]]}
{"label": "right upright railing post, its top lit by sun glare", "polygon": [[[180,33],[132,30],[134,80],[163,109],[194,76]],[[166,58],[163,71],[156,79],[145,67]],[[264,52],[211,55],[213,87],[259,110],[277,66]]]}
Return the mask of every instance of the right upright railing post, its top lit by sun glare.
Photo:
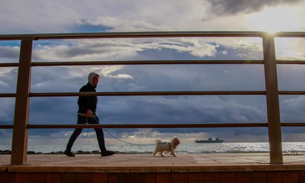
{"label": "right upright railing post, its top lit by sun glare", "polygon": [[264,34],[263,53],[267,99],[267,120],[270,163],[283,163],[280,106],[278,100],[278,75],[276,71],[274,36]]}

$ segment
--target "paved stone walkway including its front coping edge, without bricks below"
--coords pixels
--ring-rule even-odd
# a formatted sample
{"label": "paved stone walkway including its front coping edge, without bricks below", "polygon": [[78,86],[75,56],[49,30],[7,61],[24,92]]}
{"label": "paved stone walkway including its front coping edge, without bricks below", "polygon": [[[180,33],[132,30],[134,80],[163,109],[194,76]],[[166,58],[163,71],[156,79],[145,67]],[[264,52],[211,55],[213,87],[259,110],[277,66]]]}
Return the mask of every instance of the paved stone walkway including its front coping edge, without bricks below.
{"label": "paved stone walkway including its front coping edge, without bricks below", "polygon": [[[269,153],[28,155],[28,166],[10,166],[10,155],[0,155],[0,172],[190,172],[305,170],[305,156],[283,156],[284,164],[269,164]],[[258,163],[264,162],[264,164]]]}

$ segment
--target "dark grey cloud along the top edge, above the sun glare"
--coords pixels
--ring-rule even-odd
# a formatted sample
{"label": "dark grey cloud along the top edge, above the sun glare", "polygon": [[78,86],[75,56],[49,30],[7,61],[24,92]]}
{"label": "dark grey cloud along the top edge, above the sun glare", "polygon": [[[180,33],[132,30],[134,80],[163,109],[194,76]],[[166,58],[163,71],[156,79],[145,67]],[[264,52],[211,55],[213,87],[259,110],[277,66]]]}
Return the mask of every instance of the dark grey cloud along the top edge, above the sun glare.
{"label": "dark grey cloud along the top edge, above the sun glare", "polygon": [[265,7],[279,5],[295,5],[302,0],[208,0],[212,4],[212,12],[218,15],[234,15],[237,13],[253,13]]}

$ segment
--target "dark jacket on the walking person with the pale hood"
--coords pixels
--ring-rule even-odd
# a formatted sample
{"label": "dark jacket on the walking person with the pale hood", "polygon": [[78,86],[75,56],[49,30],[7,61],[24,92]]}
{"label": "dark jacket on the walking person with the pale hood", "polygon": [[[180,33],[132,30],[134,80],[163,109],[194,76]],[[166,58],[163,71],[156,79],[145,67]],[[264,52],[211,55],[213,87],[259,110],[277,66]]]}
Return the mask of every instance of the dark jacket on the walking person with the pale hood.
{"label": "dark jacket on the walking person with the pale hood", "polygon": [[[96,90],[91,84],[87,83],[81,87],[79,92],[96,92]],[[97,96],[79,96],[77,104],[77,113],[87,113],[88,109],[90,109],[91,112],[96,112]]]}

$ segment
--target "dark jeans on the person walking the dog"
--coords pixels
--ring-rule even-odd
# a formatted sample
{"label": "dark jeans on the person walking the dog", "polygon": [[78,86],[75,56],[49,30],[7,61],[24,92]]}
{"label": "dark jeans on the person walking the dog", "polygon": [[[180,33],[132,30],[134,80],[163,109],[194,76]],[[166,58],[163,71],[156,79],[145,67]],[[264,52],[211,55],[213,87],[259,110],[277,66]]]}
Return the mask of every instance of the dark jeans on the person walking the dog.
{"label": "dark jeans on the person walking the dog", "polygon": [[[95,120],[93,118],[95,118]],[[85,124],[85,120],[86,120],[85,116],[77,115],[77,124]],[[88,124],[99,124],[99,118],[97,116],[88,117]],[[101,152],[105,152],[106,147],[105,147],[103,130],[102,130],[102,128],[94,128],[94,130],[96,132],[97,141],[99,142],[99,149],[101,150]],[[78,137],[78,135],[81,134],[81,131],[82,131],[82,128],[76,128],[74,130],[74,132],[71,135],[69,142],[67,144],[66,151],[71,151],[71,148],[72,148],[76,138]]]}

